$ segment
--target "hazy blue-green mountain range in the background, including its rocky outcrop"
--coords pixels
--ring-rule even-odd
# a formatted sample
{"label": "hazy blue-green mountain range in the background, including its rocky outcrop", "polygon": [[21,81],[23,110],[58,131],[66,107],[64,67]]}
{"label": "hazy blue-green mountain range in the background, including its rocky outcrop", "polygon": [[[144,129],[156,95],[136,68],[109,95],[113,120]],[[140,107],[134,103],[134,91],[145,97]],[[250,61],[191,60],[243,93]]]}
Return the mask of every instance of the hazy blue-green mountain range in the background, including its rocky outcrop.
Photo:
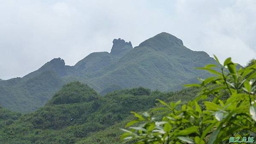
{"label": "hazy blue-green mountain range in the background, including its rocky outcrop", "polygon": [[0,105],[14,111],[35,111],[70,81],[87,84],[102,95],[140,86],[173,91],[209,76],[195,67],[210,63],[216,64],[206,52],[192,51],[166,32],[134,48],[131,42],[114,39],[110,53],[93,52],[74,66],[54,58],[23,78],[0,81]]}

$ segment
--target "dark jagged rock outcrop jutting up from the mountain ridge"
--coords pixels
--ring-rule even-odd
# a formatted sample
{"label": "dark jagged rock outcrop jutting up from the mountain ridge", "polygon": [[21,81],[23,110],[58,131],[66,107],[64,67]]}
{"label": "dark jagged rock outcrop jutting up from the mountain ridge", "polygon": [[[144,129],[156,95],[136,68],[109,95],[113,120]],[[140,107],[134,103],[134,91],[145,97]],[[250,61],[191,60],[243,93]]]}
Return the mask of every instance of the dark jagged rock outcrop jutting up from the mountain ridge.
{"label": "dark jagged rock outcrop jutting up from the mountain ridge", "polygon": [[113,55],[124,55],[130,50],[132,50],[131,41],[125,42],[125,40],[119,38],[113,40],[113,46],[110,53]]}

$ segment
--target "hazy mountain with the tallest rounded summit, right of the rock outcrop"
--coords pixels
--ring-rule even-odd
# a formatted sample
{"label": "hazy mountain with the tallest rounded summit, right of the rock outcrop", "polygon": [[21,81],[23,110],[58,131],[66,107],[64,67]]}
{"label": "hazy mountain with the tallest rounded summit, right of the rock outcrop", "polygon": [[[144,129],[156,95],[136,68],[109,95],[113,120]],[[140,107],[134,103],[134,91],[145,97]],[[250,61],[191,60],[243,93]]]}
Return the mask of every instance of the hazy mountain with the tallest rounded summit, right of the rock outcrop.
{"label": "hazy mountain with the tallest rounded summit, right of the rock outcrop", "polygon": [[122,88],[143,86],[161,91],[172,90],[188,79],[196,80],[205,72],[195,67],[216,63],[206,52],[195,52],[180,39],[168,33],[160,33],[129,51],[119,60],[87,77],[87,81],[99,86],[100,91],[109,85]]}

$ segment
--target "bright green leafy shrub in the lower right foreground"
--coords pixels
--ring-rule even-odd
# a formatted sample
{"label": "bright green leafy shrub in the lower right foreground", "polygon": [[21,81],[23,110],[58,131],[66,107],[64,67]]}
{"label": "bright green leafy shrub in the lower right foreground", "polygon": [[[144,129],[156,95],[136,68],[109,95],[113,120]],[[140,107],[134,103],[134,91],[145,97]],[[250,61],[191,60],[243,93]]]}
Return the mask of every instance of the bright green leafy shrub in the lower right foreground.
{"label": "bright green leafy shrub in the lower right foreground", "polygon": [[153,112],[166,112],[160,118],[148,112],[132,112],[137,119],[126,125],[128,129],[122,129],[122,141],[221,144],[228,143],[230,137],[256,136],[256,64],[237,70],[236,64],[227,58],[219,71],[216,67],[210,64],[199,68],[215,76],[201,79],[201,84],[187,85],[201,88],[197,98],[188,104],[180,106],[181,101],[167,104],[158,100],[164,107]]}

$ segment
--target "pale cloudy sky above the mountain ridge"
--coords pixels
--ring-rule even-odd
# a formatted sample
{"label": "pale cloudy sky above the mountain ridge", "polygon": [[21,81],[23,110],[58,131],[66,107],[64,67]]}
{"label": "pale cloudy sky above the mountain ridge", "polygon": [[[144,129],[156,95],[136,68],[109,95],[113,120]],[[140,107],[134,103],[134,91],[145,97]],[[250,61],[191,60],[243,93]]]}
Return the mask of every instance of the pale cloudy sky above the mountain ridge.
{"label": "pale cloudy sky above the mountain ridge", "polygon": [[112,40],[137,46],[160,32],[220,60],[256,56],[256,0],[0,0],[0,78],[52,58],[74,65]]}

